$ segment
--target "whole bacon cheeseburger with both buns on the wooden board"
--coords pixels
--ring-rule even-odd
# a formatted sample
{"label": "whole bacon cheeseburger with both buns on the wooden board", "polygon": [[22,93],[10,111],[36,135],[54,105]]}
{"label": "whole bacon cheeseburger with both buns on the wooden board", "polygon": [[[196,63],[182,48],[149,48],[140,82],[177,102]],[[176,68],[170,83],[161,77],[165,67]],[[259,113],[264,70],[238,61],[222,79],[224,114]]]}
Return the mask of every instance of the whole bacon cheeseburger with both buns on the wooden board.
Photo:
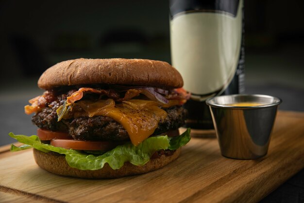
{"label": "whole bacon cheeseburger with both buns on the wooden board", "polygon": [[26,114],[37,135],[9,135],[34,148],[41,168],[81,178],[118,178],[168,165],[190,140],[179,135],[189,94],[166,62],[75,59],[57,63],[38,80],[46,90]]}

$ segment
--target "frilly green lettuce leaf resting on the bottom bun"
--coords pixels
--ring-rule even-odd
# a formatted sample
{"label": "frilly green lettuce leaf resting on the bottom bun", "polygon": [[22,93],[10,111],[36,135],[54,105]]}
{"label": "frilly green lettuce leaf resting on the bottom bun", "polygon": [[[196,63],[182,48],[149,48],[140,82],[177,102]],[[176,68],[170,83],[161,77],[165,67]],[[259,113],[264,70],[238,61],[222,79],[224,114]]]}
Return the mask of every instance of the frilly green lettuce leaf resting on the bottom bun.
{"label": "frilly green lettuce leaf resting on the bottom bun", "polygon": [[107,151],[101,155],[88,154],[87,152],[54,147],[40,142],[38,136],[15,135],[9,133],[20,143],[25,145],[21,147],[11,146],[11,151],[23,150],[33,147],[43,152],[54,151],[66,155],[68,165],[81,170],[98,170],[108,163],[113,169],[119,169],[125,162],[130,162],[136,166],[143,166],[149,162],[150,157],[155,151],[160,149],[177,149],[190,141],[190,129],[180,136],[169,138],[166,136],[149,137],[138,146],[134,146],[131,142],[119,145],[116,148]]}

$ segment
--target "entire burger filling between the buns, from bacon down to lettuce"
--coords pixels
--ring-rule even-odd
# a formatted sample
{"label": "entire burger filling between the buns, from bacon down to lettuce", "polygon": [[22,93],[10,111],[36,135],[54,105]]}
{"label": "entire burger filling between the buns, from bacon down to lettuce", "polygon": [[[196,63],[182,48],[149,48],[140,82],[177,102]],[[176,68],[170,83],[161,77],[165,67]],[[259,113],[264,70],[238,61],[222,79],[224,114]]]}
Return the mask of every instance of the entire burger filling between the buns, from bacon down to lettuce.
{"label": "entire burger filling between the buns, from bacon down to lettuce", "polygon": [[[183,89],[100,86],[61,87],[44,92],[25,106],[39,128],[37,135],[9,135],[25,144],[12,151],[35,148],[65,155],[68,165],[97,170],[105,163],[118,169],[125,162],[143,166],[170,156],[190,140],[179,135],[189,98]],[[173,133],[173,134],[172,134]]]}

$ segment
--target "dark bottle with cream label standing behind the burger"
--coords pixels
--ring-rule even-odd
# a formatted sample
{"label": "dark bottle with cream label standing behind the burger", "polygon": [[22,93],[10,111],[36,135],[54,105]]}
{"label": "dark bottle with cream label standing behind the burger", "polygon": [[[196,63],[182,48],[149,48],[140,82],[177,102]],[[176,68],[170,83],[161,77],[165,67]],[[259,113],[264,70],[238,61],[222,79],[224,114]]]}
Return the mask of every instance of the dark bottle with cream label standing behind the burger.
{"label": "dark bottle with cream label standing behind the burger", "polygon": [[243,0],[169,0],[171,62],[191,92],[186,127],[213,129],[205,100],[244,91]]}

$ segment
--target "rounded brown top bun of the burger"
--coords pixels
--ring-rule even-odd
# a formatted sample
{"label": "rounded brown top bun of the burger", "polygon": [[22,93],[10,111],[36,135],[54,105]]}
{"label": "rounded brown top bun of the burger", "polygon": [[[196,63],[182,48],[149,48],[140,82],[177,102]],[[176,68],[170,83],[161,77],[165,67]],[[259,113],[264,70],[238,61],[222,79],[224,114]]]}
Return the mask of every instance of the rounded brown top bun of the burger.
{"label": "rounded brown top bun of the burger", "polygon": [[86,84],[180,88],[183,87],[183,78],[175,68],[163,61],[79,58],[57,63],[38,80],[41,89]]}

